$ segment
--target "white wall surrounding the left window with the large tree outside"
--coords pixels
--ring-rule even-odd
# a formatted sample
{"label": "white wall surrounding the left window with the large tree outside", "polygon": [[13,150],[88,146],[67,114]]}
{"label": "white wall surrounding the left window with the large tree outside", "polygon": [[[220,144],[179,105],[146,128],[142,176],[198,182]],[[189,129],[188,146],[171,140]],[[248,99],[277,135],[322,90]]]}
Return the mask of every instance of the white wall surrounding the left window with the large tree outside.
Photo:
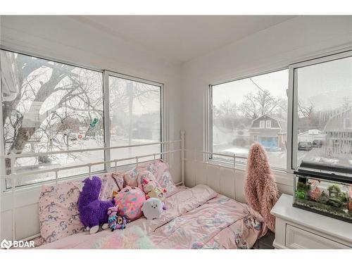
{"label": "white wall surrounding the left window with the large tree outside", "polygon": [[[5,48],[163,83],[165,129],[169,139],[180,139],[180,64],[68,17],[1,16],[0,25],[0,44]],[[180,155],[171,157],[170,170],[180,182]],[[38,194],[38,188],[31,187],[16,196],[18,239],[39,232]],[[10,197],[1,195],[0,240],[11,238]]]}

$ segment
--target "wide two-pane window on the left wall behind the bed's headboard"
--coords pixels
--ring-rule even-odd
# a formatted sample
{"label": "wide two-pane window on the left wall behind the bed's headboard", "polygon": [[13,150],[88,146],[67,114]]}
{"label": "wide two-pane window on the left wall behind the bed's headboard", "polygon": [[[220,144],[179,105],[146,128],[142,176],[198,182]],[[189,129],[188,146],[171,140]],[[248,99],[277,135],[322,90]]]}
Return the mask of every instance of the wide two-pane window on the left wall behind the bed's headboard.
{"label": "wide two-pane window on the left wall behind the bed's headboard", "polygon": [[[161,142],[162,84],[110,72],[108,82],[103,84],[107,79],[103,78],[102,71],[12,51],[0,50],[0,58],[2,153],[71,151]],[[103,87],[107,93],[103,94]],[[110,103],[104,106],[104,101]],[[156,144],[138,149],[115,149],[111,153],[84,151],[17,158],[15,165],[20,173],[160,152],[161,146]],[[9,173],[10,160],[0,162],[0,174]],[[92,172],[108,168],[109,165],[94,165]],[[84,175],[88,170],[87,167],[61,170],[58,177]],[[54,172],[42,172],[18,179],[16,186],[54,179]],[[6,182],[6,188],[10,187],[11,181]]]}

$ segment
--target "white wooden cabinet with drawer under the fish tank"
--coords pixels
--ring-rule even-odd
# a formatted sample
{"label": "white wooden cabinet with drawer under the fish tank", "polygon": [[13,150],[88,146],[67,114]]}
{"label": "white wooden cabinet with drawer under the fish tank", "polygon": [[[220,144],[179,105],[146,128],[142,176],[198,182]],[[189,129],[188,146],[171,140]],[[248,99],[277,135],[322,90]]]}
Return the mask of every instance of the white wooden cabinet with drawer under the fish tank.
{"label": "white wooden cabinet with drawer under the fish tank", "polygon": [[282,194],[271,210],[275,249],[352,249],[352,224],[294,208],[292,201]]}

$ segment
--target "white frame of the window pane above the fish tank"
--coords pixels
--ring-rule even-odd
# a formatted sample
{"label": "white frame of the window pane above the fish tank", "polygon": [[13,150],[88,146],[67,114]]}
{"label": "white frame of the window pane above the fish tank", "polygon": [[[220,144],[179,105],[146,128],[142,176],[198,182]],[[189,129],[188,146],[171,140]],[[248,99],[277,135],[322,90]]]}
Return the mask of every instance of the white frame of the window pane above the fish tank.
{"label": "white frame of the window pane above the fish tank", "polygon": [[297,69],[310,65],[336,61],[341,58],[352,56],[352,51],[342,51],[337,54],[322,56],[300,63],[289,65],[289,116],[287,118],[287,172],[293,172],[297,164],[297,144],[298,144],[298,87],[297,87]]}

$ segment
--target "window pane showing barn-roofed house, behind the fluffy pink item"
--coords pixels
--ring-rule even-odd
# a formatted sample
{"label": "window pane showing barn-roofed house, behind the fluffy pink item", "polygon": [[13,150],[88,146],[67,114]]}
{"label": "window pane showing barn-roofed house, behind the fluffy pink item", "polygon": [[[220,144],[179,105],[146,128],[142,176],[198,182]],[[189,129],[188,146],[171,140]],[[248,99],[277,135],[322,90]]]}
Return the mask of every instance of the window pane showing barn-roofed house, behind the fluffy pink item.
{"label": "window pane showing barn-roofed house, behind the fluffy pink item", "polygon": [[213,152],[247,157],[259,142],[272,167],[286,168],[288,78],[280,70],[213,85]]}

